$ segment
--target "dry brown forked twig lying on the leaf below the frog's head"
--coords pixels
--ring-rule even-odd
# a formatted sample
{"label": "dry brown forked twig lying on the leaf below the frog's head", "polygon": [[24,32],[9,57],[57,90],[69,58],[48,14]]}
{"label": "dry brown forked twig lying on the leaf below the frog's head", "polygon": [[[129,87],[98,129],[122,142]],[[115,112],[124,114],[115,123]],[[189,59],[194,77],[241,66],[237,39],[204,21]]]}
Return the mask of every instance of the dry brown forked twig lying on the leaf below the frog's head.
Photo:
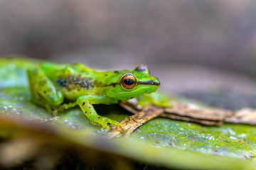
{"label": "dry brown forked twig lying on the leaf below the frog's head", "polygon": [[[134,113],[130,118],[121,122],[124,125],[123,130],[126,130],[126,137],[143,123],[158,116],[198,123],[201,125],[219,126],[224,122],[256,125],[256,110],[251,108],[242,108],[240,111],[233,112],[223,108],[208,108],[182,103],[172,103],[171,108],[161,108],[149,105],[143,109],[138,106],[137,102],[127,101],[126,103],[119,104],[127,109],[127,111]],[[110,132],[108,137],[119,137],[124,132],[123,130],[120,127],[113,127],[112,132]]]}

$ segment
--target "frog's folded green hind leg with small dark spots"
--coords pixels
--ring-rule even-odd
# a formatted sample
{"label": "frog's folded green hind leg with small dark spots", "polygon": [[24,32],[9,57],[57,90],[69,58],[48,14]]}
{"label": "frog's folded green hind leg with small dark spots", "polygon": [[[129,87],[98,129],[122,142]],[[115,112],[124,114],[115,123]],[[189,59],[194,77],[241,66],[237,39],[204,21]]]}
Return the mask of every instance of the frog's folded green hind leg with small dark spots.
{"label": "frog's folded green hind leg with small dark spots", "polygon": [[64,101],[63,92],[39,68],[28,69],[31,101],[45,107],[48,112]]}

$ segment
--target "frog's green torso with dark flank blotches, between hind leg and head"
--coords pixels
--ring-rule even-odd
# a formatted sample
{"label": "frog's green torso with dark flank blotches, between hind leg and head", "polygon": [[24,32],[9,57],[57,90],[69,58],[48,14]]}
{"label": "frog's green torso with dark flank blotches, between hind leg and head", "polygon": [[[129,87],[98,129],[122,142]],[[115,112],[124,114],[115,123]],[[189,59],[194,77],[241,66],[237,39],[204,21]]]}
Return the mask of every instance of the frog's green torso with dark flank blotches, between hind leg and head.
{"label": "frog's green torso with dark flank blotches, between hind leg and head", "polygon": [[95,94],[95,79],[99,72],[84,64],[43,62],[41,69],[62,91],[66,99],[75,101],[79,96]]}

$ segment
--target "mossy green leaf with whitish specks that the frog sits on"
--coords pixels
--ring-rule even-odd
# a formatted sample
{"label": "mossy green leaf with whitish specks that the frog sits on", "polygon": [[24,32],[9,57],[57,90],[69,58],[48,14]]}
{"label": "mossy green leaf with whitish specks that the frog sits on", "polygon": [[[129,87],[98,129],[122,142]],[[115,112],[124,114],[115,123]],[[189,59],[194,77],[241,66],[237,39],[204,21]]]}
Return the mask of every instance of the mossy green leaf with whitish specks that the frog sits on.
{"label": "mossy green leaf with whitish specks that the frog sits on", "polygon": [[[29,65],[27,63],[26,67]],[[6,125],[9,126],[0,125],[2,139],[21,137],[29,131],[22,122],[31,121],[34,125],[49,126],[56,138],[64,137],[81,149],[98,149],[149,164],[177,169],[256,169],[255,126],[224,124],[215,127],[155,118],[129,138],[107,140],[107,132],[100,126],[91,125],[79,107],[55,116],[31,103],[26,81],[23,81],[26,79],[24,69],[4,68],[0,64],[0,73],[5,75],[0,77],[0,118],[11,119],[7,120],[10,124]],[[119,121],[131,115],[117,105],[98,105],[95,110]],[[12,130],[17,128],[15,123],[21,130]],[[34,127],[41,132],[45,130],[40,126]],[[16,133],[13,134],[14,131]]]}

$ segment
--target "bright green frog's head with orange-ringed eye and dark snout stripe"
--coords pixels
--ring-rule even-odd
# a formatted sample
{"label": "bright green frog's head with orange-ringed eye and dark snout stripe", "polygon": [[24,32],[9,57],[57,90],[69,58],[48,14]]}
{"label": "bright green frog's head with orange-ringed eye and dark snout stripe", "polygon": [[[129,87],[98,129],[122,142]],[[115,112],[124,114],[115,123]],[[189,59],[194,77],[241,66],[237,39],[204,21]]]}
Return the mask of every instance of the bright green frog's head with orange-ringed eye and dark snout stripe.
{"label": "bright green frog's head with orange-ringed eye and dark snout stripe", "polygon": [[150,94],[160,86],[159,79],[149,74],[146,65],[139,65],[134,70],[114,71],[108,80],[111,81],[112,86],[104,90],[105,95],[119,100]]}

